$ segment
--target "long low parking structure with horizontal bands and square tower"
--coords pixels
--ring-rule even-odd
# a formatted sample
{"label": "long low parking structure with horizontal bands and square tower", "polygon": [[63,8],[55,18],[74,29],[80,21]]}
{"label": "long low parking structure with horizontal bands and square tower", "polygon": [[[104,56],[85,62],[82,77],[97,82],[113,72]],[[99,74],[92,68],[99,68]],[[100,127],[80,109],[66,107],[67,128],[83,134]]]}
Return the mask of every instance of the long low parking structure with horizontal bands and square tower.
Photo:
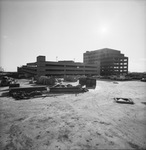
{"label": "long low parking structure with horizontal bands and square tower", "polygon": [[18,67],[18,72],[30,75],[100,75],[100,63],[84,64],[74,61],[46,61],[45,56],[38,56],[37,61]]}

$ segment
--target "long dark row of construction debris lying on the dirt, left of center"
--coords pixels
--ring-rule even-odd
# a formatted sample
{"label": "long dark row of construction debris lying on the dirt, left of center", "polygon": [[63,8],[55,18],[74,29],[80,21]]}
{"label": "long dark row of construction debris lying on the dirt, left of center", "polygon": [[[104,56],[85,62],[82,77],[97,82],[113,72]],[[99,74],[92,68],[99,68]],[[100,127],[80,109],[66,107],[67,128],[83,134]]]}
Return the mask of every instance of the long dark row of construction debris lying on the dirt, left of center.
{"label": "long dark row of construction debris lying on the dirt, left of center", "polygon": [[71,84],[63,85],[56,84],[50,88],[46,86],[35,86],[35,87],[13,87],[9,88],[9,95],[16,100],[30,99],[37,97],[48,97],[49,94],[62,93],[62,94],[73,94],[73,93],[84,93],[87,92],[87,88],[83,88],[81,85],[72,86]]}

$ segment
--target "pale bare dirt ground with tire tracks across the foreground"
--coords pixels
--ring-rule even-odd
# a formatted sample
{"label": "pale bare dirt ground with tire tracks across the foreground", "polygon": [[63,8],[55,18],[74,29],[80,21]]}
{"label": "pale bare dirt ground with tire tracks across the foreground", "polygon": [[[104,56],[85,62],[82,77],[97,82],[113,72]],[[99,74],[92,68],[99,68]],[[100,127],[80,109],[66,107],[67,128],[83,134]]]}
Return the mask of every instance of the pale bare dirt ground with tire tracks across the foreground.
{"label": "pale bare dirt ground with tire tracks across the foreground", "polygon": [[[95,90],[82,94],[0,97],[0,149],[146,149],[145,90],[146,82],[97,80]],[[119,104],[114,97],[135,104]]]}

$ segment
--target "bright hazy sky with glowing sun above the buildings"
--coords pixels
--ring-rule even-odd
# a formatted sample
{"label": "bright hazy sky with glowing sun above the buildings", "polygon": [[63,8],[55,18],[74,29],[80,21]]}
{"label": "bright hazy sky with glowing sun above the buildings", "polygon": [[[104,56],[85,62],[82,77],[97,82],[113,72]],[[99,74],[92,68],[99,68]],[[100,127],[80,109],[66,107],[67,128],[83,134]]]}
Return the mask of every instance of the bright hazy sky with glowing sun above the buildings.
{"label": "bright hazy sky with glowing sun above the buildings", "polygon": [[129,71],[146,71],[146,0],[0,1],[0,66],[45,55],[83,61],[87,50],[113,48],[129,57]]}

